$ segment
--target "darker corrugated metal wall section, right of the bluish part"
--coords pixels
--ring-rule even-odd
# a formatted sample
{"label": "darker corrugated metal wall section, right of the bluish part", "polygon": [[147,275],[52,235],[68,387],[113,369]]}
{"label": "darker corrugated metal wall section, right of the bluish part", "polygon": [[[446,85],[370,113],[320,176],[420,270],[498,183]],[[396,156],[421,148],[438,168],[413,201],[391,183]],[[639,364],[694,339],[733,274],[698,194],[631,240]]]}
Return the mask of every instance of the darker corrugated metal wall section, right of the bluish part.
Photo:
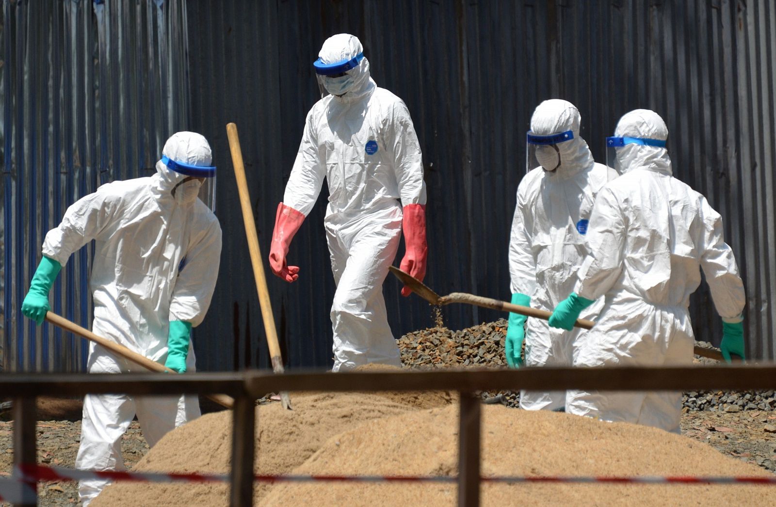
{"label": "darker corrugated metal wall section, right of the bluish part", "polygon": [[[508,234],[535,105],[574,102],[598,160],[618,118],[650,108],[667,120],[677,178],[725,217],[749,297],[750,355],[773,357],[771,2],[194,0],[187,7],[190,27],[208,27],[189,40],[192,129],[219,154],[223,192],[220,284],[197,342],[203,367],[268,365],[239,205],[223,198],[236,188],[224,126],[234,121],[240,129],[266,254],[304,117],[317,99],[310,63],[339,32],[359,35],[373,78],[404,98],[413,116],[428,184],[431,288],[509,298]],[[289,253],[299,281],[269,281],[292,366],[331,364],[324,195]],[[398,288],[390,278],[384,286],[394,333],[431,325],[428,306],[401,298]],[[698,338],[718,342],[705,285],[692,315]],[[497,317],[445,308],[456,328]]]}

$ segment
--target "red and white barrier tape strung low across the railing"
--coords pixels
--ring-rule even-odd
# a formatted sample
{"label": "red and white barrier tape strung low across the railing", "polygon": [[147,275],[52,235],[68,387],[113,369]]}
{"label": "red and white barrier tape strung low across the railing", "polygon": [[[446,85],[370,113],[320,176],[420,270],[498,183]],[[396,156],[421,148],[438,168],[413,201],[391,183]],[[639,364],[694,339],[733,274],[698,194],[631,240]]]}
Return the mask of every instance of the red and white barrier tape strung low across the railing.
{"label": "red and white barrier tape strung low across the railing", "polygon": [[[160,474],[126,471],[84,471],[72,468],[46,467],[43,465],[22,465],[26,481],[80,481],[82,479],[109,479],[113,481],[140,482],[228,482],[227,474]],[[254,476],[259,482],[447,482],[455,483],[456,477],[424,475],[267,475]],[[605,484],[750,484],[776,485],[774,477],[715,477],[715,476],[642,476],[642,477],[595,477],[595,476],[550,476],[550,477],[483,477],[483,482],[525,483],[605,483]]]}

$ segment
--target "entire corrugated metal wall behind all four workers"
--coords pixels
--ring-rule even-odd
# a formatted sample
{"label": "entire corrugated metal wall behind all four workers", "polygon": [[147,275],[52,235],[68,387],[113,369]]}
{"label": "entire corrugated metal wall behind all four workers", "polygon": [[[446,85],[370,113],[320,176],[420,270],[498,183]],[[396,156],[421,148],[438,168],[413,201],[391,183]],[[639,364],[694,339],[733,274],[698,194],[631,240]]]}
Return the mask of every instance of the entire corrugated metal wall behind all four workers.
{"label": "entire corrugated metal wall behind all four workers", "polygon": [[[774,357],[776,6],[767,0],[109,0],[102,15],[89,2],[3,5],[2,280],[10,289],[0,304],[13,309],[2,312],[8,367],[16,367],[11,352],[40,357],[47,337],[57,339],[45,330],[33,354],[33,327],[16,326],[43,233],[98,181],[143,174],[168,132],[184,126],[213,145],[224,233],[213,306],[196,330],[198,365],[268,366],[225,126],[236,122],[241,133],[266,255],[303,119],[317,99],[310,63],[327,36],[344,31],[359,35],[372,76],[404,98],[413,116],[428,184],[431,288],[509,297],[508,234],[535,105],[553,97],[574,102],[598,160],[619,116],[646,107],[668,123],[677,178],[707,195],[725,218],[747,287],[750,355]],[[36,24],[45,19],[50,24]],[[74,22],[83,29],[64,30]],[[38,35],[30,31],[34,26],[43,27]],[[29,65],[41,71],[30,74]],[[88,93],[100,83],[99,91]],[[106,112],[100,91],[109,93]],[[33,127],[56,124],[56,133]],[[31,224],[29,202],[40,201],[43,188],[54,189],[49,192],[60,202],[52,197]],[[322,194],[289,253],[301,267],[300,280],[269,280],[292,367],[331,364],[334,281],[322,226],[325,188]],[[88,254],[74,260],[55,294],[65,315],[83,323],[87,295],[79,290]],[[386,281],[394,333],[431,325],[428,305],[401,298],[398,289]],[[698,338],[718,341],[719,318],[705,286],[691,310]],[[446,322],[456,328],[497,317],[445,308]],[[57,347],[57,358],[81,357],[69,343]],[[62,367],[78,367],[78,361]],[[42,357],[34,366],[52,367]]]}

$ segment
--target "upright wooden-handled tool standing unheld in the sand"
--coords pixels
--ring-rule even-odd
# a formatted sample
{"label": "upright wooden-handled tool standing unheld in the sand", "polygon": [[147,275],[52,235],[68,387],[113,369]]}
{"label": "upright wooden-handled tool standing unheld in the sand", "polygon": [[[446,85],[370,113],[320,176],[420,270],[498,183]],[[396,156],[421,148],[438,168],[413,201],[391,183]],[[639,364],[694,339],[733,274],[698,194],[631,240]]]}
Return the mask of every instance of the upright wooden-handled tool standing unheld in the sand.
{"label": "upright wooden-handled tool standing unheld in the sand", "polygon": [[[245,178],[245,166],[243,164],[240,138],[237,136],[237,125],[234,123],[227,124],[227,137],[229,138],[229,150],[232,153],[234,178],[237,180],[237,193],[240,195],[240,205],[243,213],[243,222],[245,224],[245,236],[248,236],[248,251],[251,253],[253,276],[256,281],[256,291],[258,291],[258,303],[262,307],[262,319],[264,320],[264,331],[267,336],[269,356],[272,359],[272,371],[275,373],[283,373],[283,360],[280,356],[278,333],[275,330],[275,317],[272,315],[272,302],[269,299],[267,278],[264,274],[262,251],[258,247],[258,234],[256,233],[256,222],[253,217],[253,208],[251,207],[251,196],[248,194],[248,180]],[[283,408],[290,409],[291,400],[289,399],[288,393],[281,392],[280,398]]]}

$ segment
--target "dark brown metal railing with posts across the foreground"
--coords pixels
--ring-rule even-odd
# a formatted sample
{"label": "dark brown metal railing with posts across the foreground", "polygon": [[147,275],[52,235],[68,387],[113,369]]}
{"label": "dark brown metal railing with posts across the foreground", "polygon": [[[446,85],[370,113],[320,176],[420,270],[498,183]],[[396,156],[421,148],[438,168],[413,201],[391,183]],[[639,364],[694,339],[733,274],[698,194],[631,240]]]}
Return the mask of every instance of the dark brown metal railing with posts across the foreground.
{"label": "dark brown metal railing with posts across the foreground", "polygon": [[[459,412],[458,505],[480,503],[480,398],[476,391],[686,391],[776,387],[776,365],[710,367],[523,368],[520,370],[375,371],[272,374],[2,374],[0,392],[14,398],[15,470],[36,463],[37,396],[230,395],[234,398],[230,505],[252,505],[255,399],[278,391],[457,391]],[[21,505],[36,505],[35,484]]]}

